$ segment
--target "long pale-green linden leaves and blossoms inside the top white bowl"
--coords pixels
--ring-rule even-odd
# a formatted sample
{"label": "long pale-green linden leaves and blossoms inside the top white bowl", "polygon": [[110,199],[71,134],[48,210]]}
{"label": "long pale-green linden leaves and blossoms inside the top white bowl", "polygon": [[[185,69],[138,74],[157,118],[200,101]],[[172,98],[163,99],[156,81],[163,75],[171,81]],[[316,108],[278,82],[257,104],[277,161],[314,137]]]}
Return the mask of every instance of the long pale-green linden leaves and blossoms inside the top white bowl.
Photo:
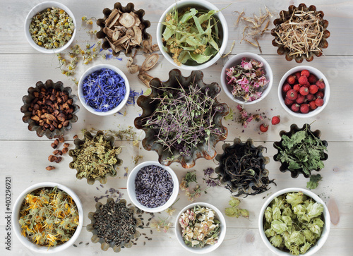
{"label": "long pale-green linden leaves and blossoms inside the top white bowl", "polygon": [[219,20],[214,16],[218,11],[174,8],[168,13],[162,33],[164,51],[172,55],[174,62],[201,64],[211,59],[220,50],[221,39]]}

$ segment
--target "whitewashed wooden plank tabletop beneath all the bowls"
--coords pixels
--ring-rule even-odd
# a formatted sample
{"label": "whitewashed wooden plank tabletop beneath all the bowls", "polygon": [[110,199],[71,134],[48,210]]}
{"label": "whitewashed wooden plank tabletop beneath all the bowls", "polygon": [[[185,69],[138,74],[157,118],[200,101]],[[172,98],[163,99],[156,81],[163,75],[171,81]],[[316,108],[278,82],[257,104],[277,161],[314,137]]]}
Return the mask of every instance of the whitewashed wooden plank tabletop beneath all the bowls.
{"label": "whitewashed wooden plank tabletop beneath all the bowls", "polygon": [[[71,246],[64,253],[66,255],[114,255],[114,252],[109,249],[104,252],[100,249],[100,244],[90,242],[91,233],[86,231],[85,226],[90,223],[87,214],[95,210],[94,197],[104,195],[105,190],[109,188],[118,188],[123,197],[129,202],[126,193],[126,178],[124,178],[124,167],[131,171],[133,169],[133,157],[137,154],[142,154],[145,160],[157,160],[155,152],[147,152],[142,146],[140,148],[133,147],[132,142],[121,141],[116,145],[123,146],[121,158],[124,160],[121,171],[116,178],[109,178],[104,188],[100,187],[99,183],[88,185],[85,180],[76,180],[75,171],[68,168],[68,163],[71,157],[67,154],[60,164],[56,164],[56,170],[46,171],[45,167],[50,163],[47,160],[49,154],[52,153],[50,144],[52,140],[47,138],[38,138],[35,132],[28,130],[27,124],[22,122],[23,114],[20,112],[22,106],[22,97],[27,95],[28,87],[35,86],[37,81],[45,81],[52,79],[54,82],[61,80],[64,85],[71,86],[73,92],[77,93],[76,85],[70,79],[62,75],[58,67],[58,61],[54,55],[40,54],[30,47],[30,44],[25,39],[23,32],[23,23],[25,16],[30,8],[40,1],[4,1],[1,0],[1,16],[0,16],[0,70],[1,70],[1,93],[0,93],[0,255],[35,255],[30,252],[16,238],[11,231],[11,251],[6,250],[6,208],[5,208],[5,177],[12,178],[12,204],[18,195],[28,186],[40,183],[43,181],[54,181],[67,185],[72,188],[83,202],[85,212],[84,227],[78,240],[77,247]],[[61,0],[63,4],[68,6],[76,16],[78,23],[78,33],[76,41],[81,46],[86,42],[94,44],[97,42],[95,37],[90,37],[87,31],[90,30],[86,25],[81,23],[82,16],[102,18],[102,10],[106,7],[112,8],[113,0],[108,1],[68,1]],[[241,30],[234,27],[234,22],[237,20],[237,15],[234,11],[246,11],[250,16],[254,12],[258,12],[258,1],[215,1],[214,4],[218,8],[225,8],[232,2],[232,5],[225,8],[224,13],[229,26],[229,43],[226,52],[229,50],[233,40],[236,41],[233,54],[239,54],[244,51],[251,51],[258,54],[258,49],[252,47],[245,42],[239,44],[241,39]],[[263,1],[270,10],[275,13],[287,9],[289,4],[300,4],[301,1]],[[128,1],[123,1],[126,5]],[[159,20],[163,11],[174,0],[166,1],[134,1],[136,8],[143,8],[146,12],[145,18],[151,21],[151,27],[148,32],[155,40],[155,31],[157,20]],[[309,3],[307,3],[309,4]],[[353,203],[352,203],[352,181],[353,181],[353,118],[352,118],[352,33],[353,33],[353,1],[318,1],[313,0],[310,4],[317,6],[318,10],[325,13],[325,18],[330,25],[328,30],[331,36],[328,39],[329,47],[324,50],[325,56],[315,58],[310,63],[302,63],[301,65],[310,65],[321,70],[328,78],[331,87],[331,97],[328,106],[316,117],[313,118],[293,118],[282,109],[280,102],[277,99],[277,86],[282,78],[282,75],[294,66],[300,64],[294,61],[288,62],[284,56],[278,56],[276,48],[272,46],[273,37],[268,32],[259,42],[263,50],[263,57],[270,63],[273,68],[274,81],[273,89],[263,101],[255,106],[249,106],[246,109],[250,112],[261,109],[268,117],[280,115],[281,123],[277,126],[270,126],[268,133],[258,133],[259,124],[253,122],[249,128],[244,129],[239,123],[233,121],[223,121],[225,126],[229,128],[229,135],[226,142],[232,142],[234,138],[239,137],[241,140],[252,138],[256,145],[264,145],[268,148],[266,156],[271,158],[267,169],[270,170],[270,178],[275,178],[277,186],[271,185],[269,193],[274,193],[282,188],[289,187],[306,187],[306,179],[303,176],[299,178],[291,178],[289,173],[281,173],[279,171],[280,164],[273,161],[275,149],[273,142],[280,140],[280,130],[289,130],[292,123],[297,123],[302,126],[304,123],[313,123],[312,128],[320,129],[322,139],[328,141],[328,160],[325,161],[325,168],[320,172],[323,176],[323,181],[316,190],[316,194],[320,195],[326,203],[332,205],[333,200],[337,203],[340,219],[335,221],[331,226],[330,236],[317,253],[317,255],[353,255]],[[275,18],[274,17],[274,18]],[[92,26],[93,30],[96,25]],[[273,28],[273,25],[270,27]],[[66,51],[67,53],[68,51]],[[232,56],[230,55],[230,56]],[[118,68],[121,68],[131,83],[133,90],[145,90],[146,87],[138,80],[136,75],[128,73],[126,68],[126,56],[121,54],[122,61],[119,60],[103,60],[98,58],[89,66],[96,63],[111,63]],[[136,61],[141,64],[144,57],[136,56]],[[220,71],[226,59],[221,59],[214,66],[204,70],[206,83],[220,83]],[[83,73],[85,68],[89,66],[79,65],[77,77]],[[150,71],[150,74],[162,80],[167,80],[168,71],[174,68],[160,54],[160,61],[155,68]],[[184,75],[189,75],[189,71],[182,71]],[[237,106],[229,100],[224,92],[220,94],[220,102],[227,102],[232,109]],[[78,103],[80,104],[80,103]],[[136,106],[126,106],[122,112],[126,111],[126,116],[115,115],[108,117],[98,117],[85,111],[81,106],[78,112],[78,122],[73,124],[73,129],[66,133],[65,138],[73,147],[73,135],[81,135],[80,130],[83,128],[97,129],[112,129],[117,130],[118,126],[126,128],[133,126],[133,120],[140,113],[140,108]],[[270,121],[268,121],[270,123]],[[143,133],[138,130],[140,140],[143,139]],[[222,152],[220,142],[217,145],[217,151]],[[141,161],[141,160],[140,160]],[[196,166],[193,169],[198,171],[198,181],[201,186],[203,172],[206,167],[215,167],[215,161],[206,161],[199,159],[196,161]],[[172,168],[177,172],[179,180],[185,175],[186,170],[181,168],[179,164],[172,164]],[[273,255],[268,248],[265,247],[258,233],[258,213],[265,201],[268,193],[261,195],[249,196],[241,201],[241,206],[249,209],[250,218],[235,219],[226,217],[227,220],[227,236],[224,243],[211,252],[210,255]],[[189,202],[187,201],[184,192],[179,193],[180,200],[174,206],[177,212]],[[202,195],[196,202],[210,202],[222,211],[227,207],[229,200],[229,192],[225,188],[210,188],[207,195]],[[105,202],[105,200],[101,200]],[[174,222],[175,215],[169,218],[169,221]],[[165,214],[157,214],[157,217],[166,217]],[[145,219],[146,224],[147,219]],[[119,255],[192,255],[186,252],[174,236],[174,228],[169,229],[167,233],[158,233],[153,231],[150,235],[150,228],[146,227],[141,231],[146,233],[152,240],[147,240],[145,236],[141,236],[137,245],[133,248],[124,249],[119,252]],[[83,243],[80,243],[83,242]],[[143,245],[145,242],[145,245]],[[86,245],[86,243],[89,243]],[[58,254],[59,255],[59,254]]]}

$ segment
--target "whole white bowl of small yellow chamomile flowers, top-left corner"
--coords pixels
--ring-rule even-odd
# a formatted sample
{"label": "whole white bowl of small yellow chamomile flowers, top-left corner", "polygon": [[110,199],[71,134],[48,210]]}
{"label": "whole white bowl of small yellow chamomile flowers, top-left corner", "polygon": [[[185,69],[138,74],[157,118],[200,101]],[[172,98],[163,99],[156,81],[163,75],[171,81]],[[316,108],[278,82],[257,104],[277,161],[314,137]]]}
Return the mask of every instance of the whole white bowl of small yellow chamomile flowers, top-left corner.
{"label": "whole white bowl of small yellow chamomile flowers, top-left corner", "polygon": [[25,37],[44,54],[57,54],[73,42],[76,20],[64,4],[46,1],[33,7],[25,18]]}

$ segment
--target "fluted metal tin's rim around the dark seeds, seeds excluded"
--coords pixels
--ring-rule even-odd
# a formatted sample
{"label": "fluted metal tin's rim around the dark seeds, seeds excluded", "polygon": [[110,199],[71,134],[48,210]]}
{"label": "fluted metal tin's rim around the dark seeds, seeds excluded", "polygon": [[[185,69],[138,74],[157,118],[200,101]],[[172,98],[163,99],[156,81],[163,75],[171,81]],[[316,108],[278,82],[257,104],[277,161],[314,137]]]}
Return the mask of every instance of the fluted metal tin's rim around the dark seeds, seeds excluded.
{"label": "fluted metal tin's rim around the dark seeds, seeds excluded", "polygon": [[[107,203],[110,202],[110,201],[114,201],[114,198],[113,197],[108,197]],[[119,200],[118,203],[124,203],[124,205],[126,205],[126,200],[121,199],[121,200]],[[131,246],[133,245],[132,240],[135,239],[135,238],[138,238],[141,235],[140,232],[138,232],[136,230],[136,228],[135,228],[136,232],[131,234],[130,240],[128,241],[128,243],[121,243],[119,246],[117,246],[114,243],[106,243],[104,238],[100,238],[100,237],[97,236],[97,229],[93,228],[93,225],[95,224],[94,215],[97,212],[100,212],[100,206],[101,205],[103,205],[101,202],[97,202],[97,204],[95,204],[96,211],[88,213],[88,219],[90,219],[91,223],[87,225],[86,229],[87,229],[88,232],[92,233],[92,238],[90,238],[92,243],[100,243],[101,244],[100,248],[102,250],[104,250],[104,251],[108,250],[109,248],[112,248],[114,250],[114,252],[120,252],[122,246],[124,246],[124,248],[131,248]],[[132,207],[128,207],[128,208],[133,209],[133,216],[134,216],[136,214],[136,207],[132,206]],[[136,227],[140,226],[141,223],[142,223],[141,219],[137,218],[136,219]]]}

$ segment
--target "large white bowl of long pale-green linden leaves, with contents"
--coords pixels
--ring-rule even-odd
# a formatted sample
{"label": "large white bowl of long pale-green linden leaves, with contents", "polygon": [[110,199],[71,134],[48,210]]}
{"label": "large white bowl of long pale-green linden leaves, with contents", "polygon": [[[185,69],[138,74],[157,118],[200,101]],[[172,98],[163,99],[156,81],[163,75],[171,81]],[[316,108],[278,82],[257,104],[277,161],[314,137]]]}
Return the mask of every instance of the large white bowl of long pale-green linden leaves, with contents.
{"label": "large white bowl of long pale-green linden leaves, with contents", "polygon": [[157,43],[164,58],[187,70],[212,66],[222,56],[227,42],[225,16],[205,0],[172,4],[157,25]]}

